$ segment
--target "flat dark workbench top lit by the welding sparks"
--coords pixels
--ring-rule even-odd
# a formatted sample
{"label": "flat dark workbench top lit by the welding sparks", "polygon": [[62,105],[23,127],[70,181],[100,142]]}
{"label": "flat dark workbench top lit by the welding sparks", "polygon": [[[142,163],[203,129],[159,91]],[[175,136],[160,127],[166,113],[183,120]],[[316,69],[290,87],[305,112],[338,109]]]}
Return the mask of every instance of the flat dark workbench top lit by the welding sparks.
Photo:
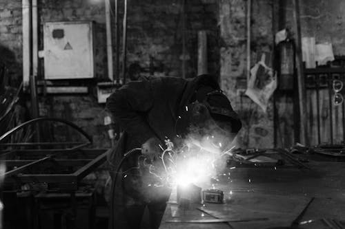
{"label": "flat dark workbench top lit by the welding sparks", "polygon": [[[345,162],[306,164],[311,169],[227,168],[224,174],[230,173],[229,177],[201,185],[223,190],[223,204],[191,204],[182,209],[172,190],[160,229],[345,228]],[[228,221],[192,223],[193,219]],[[342,227],[328,225],[330,219],[337,219]],[[294,221],[303,224],[290,227]]]}

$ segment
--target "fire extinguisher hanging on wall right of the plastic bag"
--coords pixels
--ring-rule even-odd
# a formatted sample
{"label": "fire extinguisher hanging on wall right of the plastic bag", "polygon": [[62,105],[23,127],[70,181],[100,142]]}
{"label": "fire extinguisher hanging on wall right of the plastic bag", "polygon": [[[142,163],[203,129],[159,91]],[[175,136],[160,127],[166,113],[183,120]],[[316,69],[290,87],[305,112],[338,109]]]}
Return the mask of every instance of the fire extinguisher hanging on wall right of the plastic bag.
{"label": "fire extinguisher hanging on wall right of the plastic bag", "polygon": [[281,41],[277,45],[278,51],[278,88],[293,90],[295,82],[295,43],[292,39]]}

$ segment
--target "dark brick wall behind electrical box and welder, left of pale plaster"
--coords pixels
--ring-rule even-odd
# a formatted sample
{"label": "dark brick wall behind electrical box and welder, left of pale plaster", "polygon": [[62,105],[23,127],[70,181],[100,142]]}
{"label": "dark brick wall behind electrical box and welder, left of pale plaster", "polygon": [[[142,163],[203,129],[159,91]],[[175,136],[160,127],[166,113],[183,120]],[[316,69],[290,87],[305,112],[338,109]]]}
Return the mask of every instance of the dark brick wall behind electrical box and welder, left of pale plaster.
{"label": "dark brick wall behind electrical box and welder, left of pale plaster", "polygon": [[[179,0],[128,1],[127,67],[131,63],[139,63],[144,71],[152,72],[155,76],[181,76],[181,2]],[[0,47],[3,46],[3,50],[8,52],[9,57],[4,59],[11,60],[7,61],[10,76],[18,85],[22,75],[21,1],[4,0],[0,2],[0,6]],[[119,8],[119,18],[122,19],[123,6]],[[40,30],[45,21],[95,21],[99,28],[95,39],[97,78],[107,77],[106,19],[103,0],[39,0],[38,10]],[[112,23],[112,29],[114,31],[115,23]],[[197,71],[198,30],[208,32],[209,72],[217,74],[219,36],[216,1],[186,1],[187,77],[195,76]],[[41,31],[39,37],[39,49],[42,49]],[[75,122],[93,136],[96,147],[110,146],[106,135],[107,129],[103,127],[103,117],[106,116],[104,105],[97,104],[97,99],[92,94],[40,96],[40,113],[41,116],[66,118]]]}

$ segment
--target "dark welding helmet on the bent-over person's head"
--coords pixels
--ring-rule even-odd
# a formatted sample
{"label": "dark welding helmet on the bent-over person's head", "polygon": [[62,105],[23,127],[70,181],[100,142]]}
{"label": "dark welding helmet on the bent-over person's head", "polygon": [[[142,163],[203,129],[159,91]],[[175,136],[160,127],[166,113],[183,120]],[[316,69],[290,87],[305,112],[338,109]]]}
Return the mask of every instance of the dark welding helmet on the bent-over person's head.
{"label": "dark welding helmet on the bent-over person's head", "polygon": [[193,102],[182,109],[177,118],[176,131],[182,138],[193,135],[207,138],[223,148],[233,141],[242,124],[230,101],[220,89],[200,87]]}

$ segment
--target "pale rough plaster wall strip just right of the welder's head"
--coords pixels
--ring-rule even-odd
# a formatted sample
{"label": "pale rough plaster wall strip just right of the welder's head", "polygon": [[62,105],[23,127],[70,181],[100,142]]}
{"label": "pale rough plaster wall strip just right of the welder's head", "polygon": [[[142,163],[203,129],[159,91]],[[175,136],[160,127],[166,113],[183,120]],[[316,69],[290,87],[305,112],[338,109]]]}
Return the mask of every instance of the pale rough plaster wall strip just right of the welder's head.
{"label": "pale rough plaster wall strip just right of the welder's head", "polygon": [[[272,45],[271,7],[268,0],[253,1],[251,28],[251,65],[259,52],[270,52]],[[264,12],[264,13],[263,13]],[[221,35],[221,87],[233,102],[243,128],[237,146],[273,147],[272,103],[264,113],[243,94],[246,88],[246,1],[219,1]]]}

